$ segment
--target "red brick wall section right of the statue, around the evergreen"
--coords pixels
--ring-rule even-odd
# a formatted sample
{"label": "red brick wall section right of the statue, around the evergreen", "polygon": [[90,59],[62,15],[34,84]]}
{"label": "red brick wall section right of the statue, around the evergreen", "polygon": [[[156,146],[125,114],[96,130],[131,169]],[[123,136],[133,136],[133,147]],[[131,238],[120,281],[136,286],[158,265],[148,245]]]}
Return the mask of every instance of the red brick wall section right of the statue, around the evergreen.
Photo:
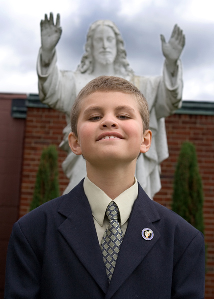
{"label": "red brick wall section right of the statue, around the evergreen", "polygon": [[214,116],[179,115],[166,119],[169,158],[162,163],[162,189],[156,201],[170,208],[173,175],[184,141],[194,143],[204,192],[205,242],[208,245],[205,298],[214,298]]}

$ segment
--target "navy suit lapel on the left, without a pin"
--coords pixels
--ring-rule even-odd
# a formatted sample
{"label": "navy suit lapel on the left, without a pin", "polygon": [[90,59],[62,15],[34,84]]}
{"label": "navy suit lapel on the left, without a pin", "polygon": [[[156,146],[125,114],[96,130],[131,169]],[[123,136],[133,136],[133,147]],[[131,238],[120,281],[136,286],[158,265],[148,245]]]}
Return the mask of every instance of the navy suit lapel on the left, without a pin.
{"label": "navy suit lapel on the left, without a pin", "polygon": [[68,193],[58,211],[67,216],[58,230],[78,256],[79,260],[106,293],[108,281],[100,250],[93,216],[82,182]]}

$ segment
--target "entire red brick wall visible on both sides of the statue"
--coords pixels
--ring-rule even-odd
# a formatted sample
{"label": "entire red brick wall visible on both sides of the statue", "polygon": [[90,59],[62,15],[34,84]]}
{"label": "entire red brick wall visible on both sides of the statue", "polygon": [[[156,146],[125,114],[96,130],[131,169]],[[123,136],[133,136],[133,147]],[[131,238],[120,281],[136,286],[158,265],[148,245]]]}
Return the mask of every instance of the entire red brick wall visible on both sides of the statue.
{"label": "entire red brick wall visible on both sides of the statue", "polygon": [[[64,115],[60,112],[45,108],[28,108],[23,152],[20,216],[29,210],[42,149],[49,144],[59,145],[65,125]],[[155,200],[170,208],[173,175],[181,144],[187,140],[193,142],[198,155],[205,199],[205,237],[208,244],[205,298],[214,298],[214,116],[172,115],[166,119],[166,130],[170,157],[162,163],[162,189],[155,196]],[[65,152],[59,150],[61,192],[68,183],[68,179],[60,167],[65,157]]]}

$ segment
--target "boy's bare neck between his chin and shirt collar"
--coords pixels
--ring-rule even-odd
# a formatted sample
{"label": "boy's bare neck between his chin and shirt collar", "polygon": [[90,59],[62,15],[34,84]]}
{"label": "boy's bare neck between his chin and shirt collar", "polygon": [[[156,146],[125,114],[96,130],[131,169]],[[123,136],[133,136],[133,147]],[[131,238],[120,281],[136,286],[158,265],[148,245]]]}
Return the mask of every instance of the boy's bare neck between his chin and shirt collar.
{"label": "boy's bare neck between his chin and shirt collar", "polygon": [[103,190],[111,199],[115,199],[134,184],[135,165],[102,169],[87,167],[87,176],[92,183]]}

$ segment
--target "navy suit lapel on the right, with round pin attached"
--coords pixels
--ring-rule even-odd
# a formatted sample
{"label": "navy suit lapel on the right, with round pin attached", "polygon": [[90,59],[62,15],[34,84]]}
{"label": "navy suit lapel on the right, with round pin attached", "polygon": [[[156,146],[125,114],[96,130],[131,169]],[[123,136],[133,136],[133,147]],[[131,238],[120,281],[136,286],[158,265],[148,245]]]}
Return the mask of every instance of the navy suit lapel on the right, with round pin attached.
{"label": "navy suit lapel on the right, with round pin attached", "polygon": [[[159,219],[160,217],[153,201],[139,186],[138,198],[134,203],[129,218],[126,234],[105,299],[113,296],[156,244],[160,233],[152,222]],[[141,232],[144,228],[150,228],[153,231],[154,237],[152,240],[146,241],[143,239]]]}

